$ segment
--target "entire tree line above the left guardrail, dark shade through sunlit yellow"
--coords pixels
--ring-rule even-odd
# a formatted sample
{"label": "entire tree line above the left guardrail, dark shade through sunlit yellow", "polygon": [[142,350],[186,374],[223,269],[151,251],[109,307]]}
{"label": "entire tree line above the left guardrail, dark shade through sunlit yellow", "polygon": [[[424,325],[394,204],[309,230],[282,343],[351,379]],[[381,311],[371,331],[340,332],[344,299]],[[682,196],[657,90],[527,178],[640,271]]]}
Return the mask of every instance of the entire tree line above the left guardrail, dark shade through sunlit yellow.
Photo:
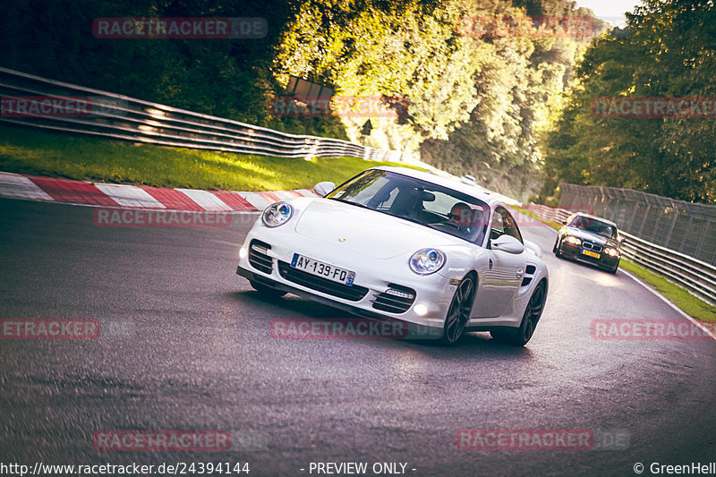
{"label": "entire tree line above the left guardrail, dark shade through sunlit yellow", "polygon": [[[591,37],[460,29],[465,19],[525,15],[593,19],[571,0],[7,0],[0,64],[286,132],[397,149],[526,199],[541,186],[546,132],[565,103],[578,106],[562,93]],[[100,17],[262,17],[268,36],[100,39],[92,35]],[[362,134],[365,116],[282,117],[271,104],[286,96],[289,75],[342,97],[382,98],[397,117],[370,117],[370,136]],[[550,144],[554,183],[563,174],[558,161],[568,158]]]}

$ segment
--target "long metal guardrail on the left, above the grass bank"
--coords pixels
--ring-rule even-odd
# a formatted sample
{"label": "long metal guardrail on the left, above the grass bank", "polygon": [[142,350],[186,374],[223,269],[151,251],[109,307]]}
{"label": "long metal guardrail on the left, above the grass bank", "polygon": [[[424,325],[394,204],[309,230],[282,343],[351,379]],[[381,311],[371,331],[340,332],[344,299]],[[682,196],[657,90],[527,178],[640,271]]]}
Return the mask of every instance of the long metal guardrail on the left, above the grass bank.
{"label": "long metal guardrail on the left, above the grass bank", "polygon": [[161,146],[280,158],[350,156],[371,160],[400,160],[400,153],[395,150],[373,149],[349,141],[278,132],[6,68],[0,68],[0,96],[4,101],[27,100],[29,97],[51,98],[64,101],[65,106],[72,104],[72,100],[84,98],[91,105],[88,114],[82,114],[79,106],[74,111],[76,114],[69,115],[41,111],[13,115],[4,111],[0,121],[6,124]]}

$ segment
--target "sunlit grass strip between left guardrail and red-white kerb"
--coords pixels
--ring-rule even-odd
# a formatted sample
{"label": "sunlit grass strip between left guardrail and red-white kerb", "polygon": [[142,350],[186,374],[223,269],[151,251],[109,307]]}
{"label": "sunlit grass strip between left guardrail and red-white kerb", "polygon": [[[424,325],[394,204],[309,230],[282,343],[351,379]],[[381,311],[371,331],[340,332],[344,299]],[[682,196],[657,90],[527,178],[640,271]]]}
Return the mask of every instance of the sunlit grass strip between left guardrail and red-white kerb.
{"label": "sunlit grass strip between left guardrail and red-white kerb", "polygon": [[[272,158],[0,125],[0,171],[107,183],[223,191],[285,191],[342,183],[369,167],[359,158]],[[419,167],[414,167],[419,168]]]}

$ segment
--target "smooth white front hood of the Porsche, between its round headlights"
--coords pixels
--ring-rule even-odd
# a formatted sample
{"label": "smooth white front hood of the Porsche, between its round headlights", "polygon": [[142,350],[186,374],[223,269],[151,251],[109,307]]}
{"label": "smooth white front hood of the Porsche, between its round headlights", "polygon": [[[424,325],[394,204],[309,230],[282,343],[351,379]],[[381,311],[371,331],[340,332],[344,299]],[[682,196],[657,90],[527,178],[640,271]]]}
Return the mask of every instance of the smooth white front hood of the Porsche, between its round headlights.
{"label": "smooth white front hood of the Porsche, between its round headlights", "polygon": [[313,200],[299,217],[295,231],[377,259],[390,259],[425,247],[468,244],[427,226],[328,199]]}

